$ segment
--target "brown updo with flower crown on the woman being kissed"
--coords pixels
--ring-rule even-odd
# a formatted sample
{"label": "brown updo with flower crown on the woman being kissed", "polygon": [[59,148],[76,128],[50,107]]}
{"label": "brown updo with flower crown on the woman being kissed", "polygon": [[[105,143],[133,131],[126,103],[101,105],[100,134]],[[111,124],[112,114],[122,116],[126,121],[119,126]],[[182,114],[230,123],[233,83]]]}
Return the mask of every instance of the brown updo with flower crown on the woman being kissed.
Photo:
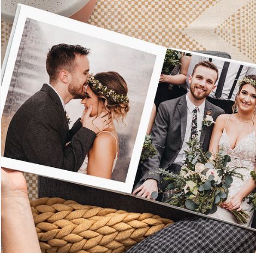
{"label": "brown updo with flower crown on the woman being kissed", "polygon": [[127,97],[127,83],[123,77],[114,71],[101,72],[88,79],[88,86],[99,100],[103,101],[105,109],[111,113],[111,117],[117,121],[121,118],[122,122],[125,123],[124,118],[130,105]]}

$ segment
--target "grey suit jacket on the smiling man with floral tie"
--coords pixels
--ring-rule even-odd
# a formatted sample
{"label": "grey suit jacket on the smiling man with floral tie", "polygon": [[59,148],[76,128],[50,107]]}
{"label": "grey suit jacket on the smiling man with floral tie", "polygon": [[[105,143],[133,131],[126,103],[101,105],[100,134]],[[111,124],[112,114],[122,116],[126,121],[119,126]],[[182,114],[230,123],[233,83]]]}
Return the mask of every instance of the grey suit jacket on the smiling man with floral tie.
{"label": "grey suit jacket on the smiling man with floral tie", "polygon": [[[224,111],[205,101],[204,118],[206,112],[211,111],[213,121]],[[187,126],[187,101],[186,95],[180,98],[165,101],[160,104],[157,117],[152,128],[152,137],[157,154],[142,164],[142,176],[139,184],[145,179],[160,180],[158,169],[168,168],[176,159],[181,150]],[[201,130],[200,143],[206,152],[209,148],[213,125]]]}

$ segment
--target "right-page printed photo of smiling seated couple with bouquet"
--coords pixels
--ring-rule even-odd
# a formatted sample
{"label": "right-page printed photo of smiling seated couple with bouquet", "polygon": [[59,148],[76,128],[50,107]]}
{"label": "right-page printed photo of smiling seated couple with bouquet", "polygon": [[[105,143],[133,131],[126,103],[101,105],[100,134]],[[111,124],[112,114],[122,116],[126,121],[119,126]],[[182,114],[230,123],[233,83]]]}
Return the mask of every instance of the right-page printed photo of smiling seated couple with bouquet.
{"label": "right-page printed photo of smiling seated couple with bouquet", "polygon": [[133,194],[256,228],[256,66],[216,56],[166,50]]}

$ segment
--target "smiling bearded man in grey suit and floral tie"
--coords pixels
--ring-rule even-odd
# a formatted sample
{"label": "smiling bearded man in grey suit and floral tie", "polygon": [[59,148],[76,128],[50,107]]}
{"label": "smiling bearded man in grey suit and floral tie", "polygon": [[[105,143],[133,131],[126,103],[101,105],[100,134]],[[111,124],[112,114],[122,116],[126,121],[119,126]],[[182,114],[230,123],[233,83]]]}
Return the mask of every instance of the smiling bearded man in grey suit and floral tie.
{"label": "smiling bearded man in grey suit and floral tie", "polygon": [[190,90],[180,98],[160,104],[152,129],[153,144],[157,154],[142,164],[142,176],[133,194],[151,198],[158,191],[160,183],[159,168],[178,173],[184,163],[185,152],[190,137],[198,135],[201,147],[209,148],[213,124],[203,125],[206,115],[213,121],[224,111],[206,100],[215,89],[218,69],[209,62],[199,62],[189,76]]}

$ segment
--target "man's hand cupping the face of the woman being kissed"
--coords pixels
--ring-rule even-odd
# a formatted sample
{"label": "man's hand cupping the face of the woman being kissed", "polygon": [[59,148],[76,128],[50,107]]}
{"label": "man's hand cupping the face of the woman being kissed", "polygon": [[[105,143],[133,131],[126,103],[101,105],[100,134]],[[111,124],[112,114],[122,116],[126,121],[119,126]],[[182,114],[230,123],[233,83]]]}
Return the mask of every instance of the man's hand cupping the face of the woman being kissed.
{"label": "man's hand cupping the face of the woman being kissed", "polygon": [[89,106],[87,112],[82,113],[81,122],[82,126],[94,131],[96,134],[109,128],[111,118],[106,111],[103,111],[98,116],[90,117],[92,112],[92,105]]}

